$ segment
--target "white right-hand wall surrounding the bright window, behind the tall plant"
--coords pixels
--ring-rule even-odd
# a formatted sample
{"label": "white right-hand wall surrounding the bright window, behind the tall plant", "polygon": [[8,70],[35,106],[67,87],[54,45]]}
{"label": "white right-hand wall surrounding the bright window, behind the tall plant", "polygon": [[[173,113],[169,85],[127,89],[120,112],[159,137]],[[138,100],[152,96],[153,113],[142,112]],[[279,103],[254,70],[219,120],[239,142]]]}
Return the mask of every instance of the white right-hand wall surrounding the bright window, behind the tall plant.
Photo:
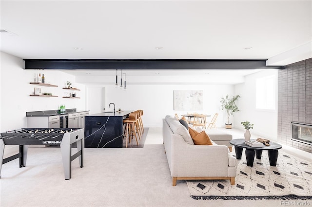
{"label": "white right-hand wall surrounding the bright window, behind the tall plant", "polygon": [[[245,76],[245,83],[234,86],[235,95],[241,98],[237,101],[239,112],[234,114],[234,127],[244,130],[242,121],[254,123],[251,133],[277,141],[277,72],[278,70],[260,71]],[[255,108],[256,79],[265,76],[275,76],[275,110],[259,110]]]}

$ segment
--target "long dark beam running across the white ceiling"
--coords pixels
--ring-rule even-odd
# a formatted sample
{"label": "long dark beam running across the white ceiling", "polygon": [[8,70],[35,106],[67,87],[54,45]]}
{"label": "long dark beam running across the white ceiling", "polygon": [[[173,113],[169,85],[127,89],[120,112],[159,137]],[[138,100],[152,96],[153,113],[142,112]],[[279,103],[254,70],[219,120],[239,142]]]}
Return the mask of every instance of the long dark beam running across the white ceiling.
{"label": "long dark beam running across the white ceiling", "polygon": [[25,69],[148,70],[148,69],[282,69],[267,59],[23,59]]}

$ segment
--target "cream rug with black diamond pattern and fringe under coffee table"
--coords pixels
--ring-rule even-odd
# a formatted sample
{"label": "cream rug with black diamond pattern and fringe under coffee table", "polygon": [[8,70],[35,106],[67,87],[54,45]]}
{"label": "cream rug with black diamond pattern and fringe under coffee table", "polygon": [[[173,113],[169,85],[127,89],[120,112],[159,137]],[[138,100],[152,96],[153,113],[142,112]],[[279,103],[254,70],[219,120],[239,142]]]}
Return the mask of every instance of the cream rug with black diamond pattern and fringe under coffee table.
{"label": "cream rug with black diamond pattern and fringe under coffee table", "polygon": [[279,152],[273,167],[263,151],[261,159],[254,158],[254,166],[248,167],[244,150],[236,164],[235,185],[229,180],[187,181],[190,196],[203,200],[312,199],[311,162]]}

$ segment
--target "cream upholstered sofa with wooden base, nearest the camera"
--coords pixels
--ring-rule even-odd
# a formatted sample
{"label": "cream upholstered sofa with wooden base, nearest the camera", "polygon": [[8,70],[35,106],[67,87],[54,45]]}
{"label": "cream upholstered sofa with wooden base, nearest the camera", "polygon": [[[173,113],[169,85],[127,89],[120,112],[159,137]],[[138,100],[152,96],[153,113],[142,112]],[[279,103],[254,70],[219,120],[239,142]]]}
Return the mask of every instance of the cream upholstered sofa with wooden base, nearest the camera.
{"label": "cream upholstered sofa with wooden base, nearest the camera", "polygon": [[225,179],[234,185],[236,161],[227,146],[195,145],[188,130],[169,115],[163,119],[162,130],[173,186],[176,180]]}

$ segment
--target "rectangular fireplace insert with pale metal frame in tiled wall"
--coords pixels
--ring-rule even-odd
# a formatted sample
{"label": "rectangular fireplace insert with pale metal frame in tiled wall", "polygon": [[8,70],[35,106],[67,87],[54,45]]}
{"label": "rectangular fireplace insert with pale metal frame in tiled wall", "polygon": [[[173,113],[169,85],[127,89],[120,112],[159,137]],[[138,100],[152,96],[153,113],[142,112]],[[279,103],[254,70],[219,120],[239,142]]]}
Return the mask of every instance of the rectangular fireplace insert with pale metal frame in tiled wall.
{"label": "rectangular fireplace insert with pale metal frame in tiled wall", "polygon": [[293,141],[312,145],[312,124],[292,121],[291,136]]}

